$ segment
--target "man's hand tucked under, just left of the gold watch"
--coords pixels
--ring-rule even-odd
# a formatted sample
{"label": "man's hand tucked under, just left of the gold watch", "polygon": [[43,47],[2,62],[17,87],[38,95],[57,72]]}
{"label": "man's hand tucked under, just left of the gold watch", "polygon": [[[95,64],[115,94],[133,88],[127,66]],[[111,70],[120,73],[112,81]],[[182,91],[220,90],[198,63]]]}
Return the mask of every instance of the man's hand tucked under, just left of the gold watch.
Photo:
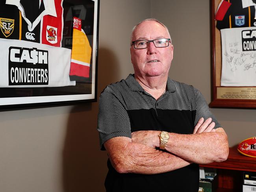
{"label": "man's hand tucked under, just left of the gold watch", "polygon": [[156,148],[160,145],[158,137],[160,133],[161,131],[135,131],[132,132],[132,142]]}

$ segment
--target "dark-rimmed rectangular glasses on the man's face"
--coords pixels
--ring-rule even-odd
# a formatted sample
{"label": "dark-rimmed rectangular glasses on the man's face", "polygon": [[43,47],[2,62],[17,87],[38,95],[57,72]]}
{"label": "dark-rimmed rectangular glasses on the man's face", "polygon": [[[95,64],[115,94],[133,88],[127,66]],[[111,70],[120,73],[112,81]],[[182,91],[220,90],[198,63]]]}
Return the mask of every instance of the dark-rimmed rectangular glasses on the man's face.
{"label": "dark-rimmed rectangular glasses on the man's face", "polygon": [[132,41],[132,44],[135,49],[145,49],[148,48],[150,42],[153,42],[156,47],[168,47],[171,39],[137,40]]}

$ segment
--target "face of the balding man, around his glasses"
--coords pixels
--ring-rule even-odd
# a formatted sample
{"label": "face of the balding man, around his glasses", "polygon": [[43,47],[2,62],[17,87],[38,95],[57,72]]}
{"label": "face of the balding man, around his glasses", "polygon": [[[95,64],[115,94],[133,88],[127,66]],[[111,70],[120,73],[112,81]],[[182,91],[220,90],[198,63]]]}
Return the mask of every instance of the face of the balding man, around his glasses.
{"label": "face of the balding man, around his glasses", "polygon": [[[167,30],[160,23],[155,21],[145,21],[137,27],[132,36],[132,41],[154,40],[160,38],[170,38]],[[156,77],[168,76],[171,61],[173,60],[173,45],[157,48],[150,42],[148,48],[131,48],[132,65],[134,66],[135,76]]]}

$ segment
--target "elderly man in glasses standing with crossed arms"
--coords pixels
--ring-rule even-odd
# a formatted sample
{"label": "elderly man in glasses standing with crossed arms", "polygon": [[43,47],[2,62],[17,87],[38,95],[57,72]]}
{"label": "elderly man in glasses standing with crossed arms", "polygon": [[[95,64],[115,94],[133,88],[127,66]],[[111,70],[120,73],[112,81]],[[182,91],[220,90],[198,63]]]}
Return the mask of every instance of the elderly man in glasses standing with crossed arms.
{"label": "elderly man in glasses standing with crossed arms", "polygon": [[173,44],[161,22],[143,20],[131,41],[134,75],[100,95],[106,190],[198,192],[198,164],[226,160],[226,133],[197,89],[168,77]]}

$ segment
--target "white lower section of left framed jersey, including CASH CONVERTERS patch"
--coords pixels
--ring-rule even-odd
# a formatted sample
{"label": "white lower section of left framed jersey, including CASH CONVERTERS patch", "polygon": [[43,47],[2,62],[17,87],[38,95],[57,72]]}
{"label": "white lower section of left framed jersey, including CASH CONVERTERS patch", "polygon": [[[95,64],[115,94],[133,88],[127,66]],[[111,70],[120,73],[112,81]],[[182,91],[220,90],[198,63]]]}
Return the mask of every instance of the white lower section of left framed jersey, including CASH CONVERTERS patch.
{"label": "white lower section of left framed jersey, including CASH CONVERTERS patch", "polygon": [[0,39],[0,87],[63,87],[70,81],[71,50],[15,39]]}

